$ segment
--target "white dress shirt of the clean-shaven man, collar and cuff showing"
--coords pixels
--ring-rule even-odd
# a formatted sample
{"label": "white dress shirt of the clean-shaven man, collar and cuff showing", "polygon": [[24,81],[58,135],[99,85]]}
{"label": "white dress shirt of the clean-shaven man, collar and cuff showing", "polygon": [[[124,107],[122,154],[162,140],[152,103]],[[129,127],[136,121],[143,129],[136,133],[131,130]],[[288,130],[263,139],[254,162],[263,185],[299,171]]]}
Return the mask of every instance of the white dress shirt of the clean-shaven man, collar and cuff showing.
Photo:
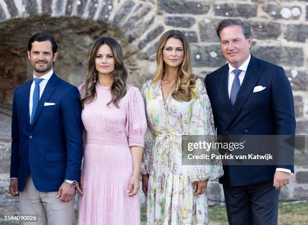
{"label": "white dress shirt of the clean-shaven man, collar and cuff showing", "polygon": [[[239,79],[240,79],[240,84],[241,85],[243,83],[243,80],[244,80],[244,77],[245,77],[245,74],[246,74],[246,71],[247,71],[247,67],[248,67],[250,58],[251,58],[251,54],[249,54],[248,59],[238,68],[238,69],[242,70],[240,75],[239,75]],[[236,69],[236,68],[233,67],[230,64],[230,62],[228,62],[228,66],[229,66],[229,72],[228,72],[228,95],[229,95],[229,98],[230,98],[231,88],[232,88],[233,80],[235,78],[235,74],[233,73],[233,70]],[[293,175],[291,173],[291,170],[289,170],[289,169],[276,168],[276,171],[282,171],[282,172],[286,172],[286,173],[289,173],[289,174]]]}

